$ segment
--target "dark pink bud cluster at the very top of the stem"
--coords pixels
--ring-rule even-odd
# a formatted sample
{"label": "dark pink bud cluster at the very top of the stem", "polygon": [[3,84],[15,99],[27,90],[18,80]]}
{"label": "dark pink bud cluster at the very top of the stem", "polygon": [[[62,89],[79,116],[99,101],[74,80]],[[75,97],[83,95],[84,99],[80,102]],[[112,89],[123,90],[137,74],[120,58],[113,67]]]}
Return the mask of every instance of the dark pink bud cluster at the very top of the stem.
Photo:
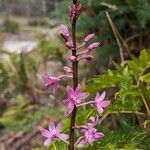
{"label": "dark pink bud cluster at the very top of the stem", "polygon": [[69,17],[70,17],[70,21],[72,22],[73,19],[77,20],[79,15],[80,15],[80,11],[81,11],[81,5],[77,4],[77,5],[73,5],[73,6],[69,6]]}

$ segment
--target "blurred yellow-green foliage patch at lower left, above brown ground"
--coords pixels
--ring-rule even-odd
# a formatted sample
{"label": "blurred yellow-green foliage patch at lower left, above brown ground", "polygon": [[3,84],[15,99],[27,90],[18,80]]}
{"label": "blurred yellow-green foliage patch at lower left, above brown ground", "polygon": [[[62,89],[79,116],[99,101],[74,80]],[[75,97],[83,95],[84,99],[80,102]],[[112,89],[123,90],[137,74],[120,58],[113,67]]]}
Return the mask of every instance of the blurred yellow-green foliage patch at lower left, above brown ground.
{"label": "blurred yellow-green foliage patch at lower left, above brown ground", "polygon": [[5,111],[0,118],[3,125],[3,132],[26,133],[33,128],[33,125],[43,120],[46,116],[58,116],[59,110],[53,110],[46,106],[27,104],[28,99],[23,95],[17,95],[12,101],[15,105]]}

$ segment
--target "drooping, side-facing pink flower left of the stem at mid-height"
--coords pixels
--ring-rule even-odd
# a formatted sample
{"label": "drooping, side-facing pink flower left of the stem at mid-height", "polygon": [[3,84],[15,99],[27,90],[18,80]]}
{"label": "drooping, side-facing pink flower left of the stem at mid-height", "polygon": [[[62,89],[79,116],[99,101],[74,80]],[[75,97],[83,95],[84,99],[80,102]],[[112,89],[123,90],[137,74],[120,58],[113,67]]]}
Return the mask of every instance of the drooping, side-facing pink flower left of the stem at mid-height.
{"label": "drooping, side-facing pink flower left of the stem at mid-height", "polygon": [[43,75],[43,79],[46,82],[45,86],[46,87],[52,87],[53,88],[53,92],[58,87],[58,84],[60,82],[60,78],[59,77],[52,77],[52,76],[49,76],[47,74]]}

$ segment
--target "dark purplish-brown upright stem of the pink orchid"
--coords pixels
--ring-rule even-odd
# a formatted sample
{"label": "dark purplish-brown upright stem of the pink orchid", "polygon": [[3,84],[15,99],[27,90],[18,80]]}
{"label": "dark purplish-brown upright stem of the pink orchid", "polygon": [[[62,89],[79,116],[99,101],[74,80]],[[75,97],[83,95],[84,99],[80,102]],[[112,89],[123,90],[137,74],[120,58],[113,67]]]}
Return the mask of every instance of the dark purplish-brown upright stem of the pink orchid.
{"label": "dark purplish-brown upright stem of the pink orchid", "polygon": [[[73,4],[77,4],[77,0],[73,0]],[[72,22],[72,41],[74,49],[72,50],[72,55],[77,58],[76,55],[76,19],[73,18]],[[72,70],[73,70],[73,87],[74,90],[78,86],[78,62],[74,61],[72,63]],[[76,118],[77,108],[74,106],[74,109],[71,114],[71,122],[70,122],[70,132],[69,132],[69,146],[68,150],[74,150],[74,126],[75,126],[75,118]]]}

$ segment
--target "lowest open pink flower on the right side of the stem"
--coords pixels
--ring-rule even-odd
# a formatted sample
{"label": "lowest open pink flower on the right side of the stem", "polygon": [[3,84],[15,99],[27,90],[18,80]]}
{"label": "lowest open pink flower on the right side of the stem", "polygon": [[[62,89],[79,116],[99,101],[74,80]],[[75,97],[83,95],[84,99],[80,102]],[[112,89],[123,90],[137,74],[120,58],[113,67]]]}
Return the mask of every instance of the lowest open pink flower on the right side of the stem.
{"label": "lowest open pink flower on the right side of the stem", "polygon": [[78,144],[78,147],[84,147],[86,144],[93,144],[93,142],[104,137],[104,134],[97,132],[95,128],[82,129],[81,132],[84,134],[82,140]]}

